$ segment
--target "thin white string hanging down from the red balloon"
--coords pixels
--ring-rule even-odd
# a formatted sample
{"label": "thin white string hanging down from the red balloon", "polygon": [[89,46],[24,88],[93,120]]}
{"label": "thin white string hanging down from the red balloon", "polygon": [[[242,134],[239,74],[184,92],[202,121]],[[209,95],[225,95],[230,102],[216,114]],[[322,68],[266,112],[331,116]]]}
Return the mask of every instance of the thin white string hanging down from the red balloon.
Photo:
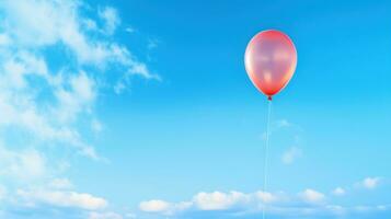
{"label": "thin white string hanging down from the red balloon", "polygon": [[272,100],[268,101],[267,106],[267,122],[266,122],[266,143],[265,143],[265,160],[264,160],[264,178],[263,178],[263,210],[262,210],[262,218],[265,219],[266,217],[266,189],[267,189],[267,169],[268,169],[268,147],[269,147],[269,135],[271,135],[271,114],[272,114]]}

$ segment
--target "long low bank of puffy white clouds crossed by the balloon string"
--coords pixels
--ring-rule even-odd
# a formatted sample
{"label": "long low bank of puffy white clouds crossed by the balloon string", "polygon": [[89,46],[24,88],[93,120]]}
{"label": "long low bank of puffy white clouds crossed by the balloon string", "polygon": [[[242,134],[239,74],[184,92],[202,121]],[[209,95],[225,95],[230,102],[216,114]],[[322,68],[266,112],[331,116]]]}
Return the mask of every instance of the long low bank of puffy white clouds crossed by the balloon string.
{"label": "long low bank of puffy white clouds crossed by the balloon string", "polygon": [[[341,188],[342,189],[342,188]],[[341,193],[340,189],[336,189]],[[240,192],[212,192],[198,193],[189,201],[170,203],[165,200],[142,201],[139,209],[147,214],[158,215],[183,215],[186,212],[208,212],[218,211],[227,218],[253,215],[258,216],[265,208],[268,215],[276,217],[299,218],[327,216],[340,217],[365,212],[381,212],[391,210],[390,205],[375,206],[341,206],[330,203],[323,193],[308,188],[297,195],[289,195],[284,192],[278,193],[240,193]],[[186,204],[181,210],[175,210],[174,206]]]}

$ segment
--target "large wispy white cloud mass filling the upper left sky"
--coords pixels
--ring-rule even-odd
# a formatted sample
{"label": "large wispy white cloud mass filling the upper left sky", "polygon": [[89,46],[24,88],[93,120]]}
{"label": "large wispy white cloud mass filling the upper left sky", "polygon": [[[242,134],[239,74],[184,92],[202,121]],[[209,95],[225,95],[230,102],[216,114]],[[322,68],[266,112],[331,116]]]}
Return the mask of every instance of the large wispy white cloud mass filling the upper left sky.
{"label": "large wispy white cloud mass filling the upper left sky", "polygon": [[[50,0],[7,0],[0,5],[4,18],[0,30],[0,126],[26,130],[42,145],[71,146],[81,154],[100,159],[77,125],[80,117],[93,118],[102,90],[97,81],[105,80],[101,71],[124,71],[113,84],[122,84],[120,90],[134,74],[159,77],[128,48],[100,35],[96,21],[80,12],[84,5],[82,1]],[[93,12],[108,32],[120,25],[114,8]],[[46,54],[47,48],[55,55]],[[53,56],[64,60],[55,69]],[[91,123],[93,131],[101,129],[102,125]]]}

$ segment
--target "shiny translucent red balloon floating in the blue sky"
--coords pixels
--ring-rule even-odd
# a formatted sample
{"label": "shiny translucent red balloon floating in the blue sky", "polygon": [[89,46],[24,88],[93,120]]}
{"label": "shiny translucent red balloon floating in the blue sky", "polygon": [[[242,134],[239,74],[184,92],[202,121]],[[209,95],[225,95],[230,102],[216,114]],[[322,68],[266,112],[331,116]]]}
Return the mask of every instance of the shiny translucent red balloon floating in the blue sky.
{"label": "shiny translucent red balloon floating in the blue sky", "polygon": [[245,70],[253,84],[268,100],[288,84],[295,73],[296,64],[295,45],[279,31],[260,32],[245,49]]}

